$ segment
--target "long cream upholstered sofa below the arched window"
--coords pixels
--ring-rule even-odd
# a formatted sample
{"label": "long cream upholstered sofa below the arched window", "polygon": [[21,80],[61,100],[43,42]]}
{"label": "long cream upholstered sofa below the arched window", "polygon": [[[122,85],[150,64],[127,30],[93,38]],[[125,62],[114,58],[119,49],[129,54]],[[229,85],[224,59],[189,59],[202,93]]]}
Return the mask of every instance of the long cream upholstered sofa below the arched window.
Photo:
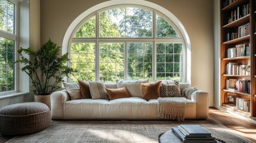
{"label": "long cream upholstered sofa below the arched window", "polygon": [[[190,87],[180,83],[180,89]],[[206,119],[208,117],[209,95],[204,91],[193,92],[186,100],[185,119]],[[51,94],[52,119],[67,120],[159,120],[158,100],[146,101],[140,97],[116,100],[70,100],[66,90]]]}

